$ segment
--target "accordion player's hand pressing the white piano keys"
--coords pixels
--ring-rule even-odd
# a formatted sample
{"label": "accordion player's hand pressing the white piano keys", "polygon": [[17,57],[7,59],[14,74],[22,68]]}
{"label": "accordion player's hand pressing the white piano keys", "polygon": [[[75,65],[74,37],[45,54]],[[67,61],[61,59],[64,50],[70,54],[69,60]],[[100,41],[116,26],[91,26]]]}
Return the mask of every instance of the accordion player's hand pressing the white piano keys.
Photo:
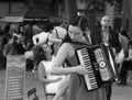
{"label": "accordion player's hand pressing the white piano keys", "polygon": [[87,67],[85,67],[85,65],[79,65],[77,67],[74,67],[75,71],[79,75],[87,75],[88,74],[88,69]]}

